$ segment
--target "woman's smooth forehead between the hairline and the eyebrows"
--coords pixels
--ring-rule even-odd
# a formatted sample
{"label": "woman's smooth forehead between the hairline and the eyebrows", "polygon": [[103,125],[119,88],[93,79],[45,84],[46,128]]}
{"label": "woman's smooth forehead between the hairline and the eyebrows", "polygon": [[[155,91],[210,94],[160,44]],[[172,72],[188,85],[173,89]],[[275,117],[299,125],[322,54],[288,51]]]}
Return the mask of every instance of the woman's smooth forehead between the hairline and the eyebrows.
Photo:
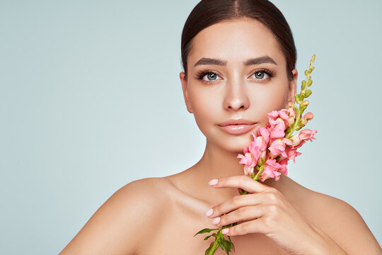
{"label": "woman's smooth forehead between the hairline and the eyebrows", "polygon": [[193,66],[201,57],[214,57],[229,64],[266,55],[277,64],[285,64],[279,43],[269,28],[253,18],[241,18],[221,21],[200,31],[192,39],[188,63]]}

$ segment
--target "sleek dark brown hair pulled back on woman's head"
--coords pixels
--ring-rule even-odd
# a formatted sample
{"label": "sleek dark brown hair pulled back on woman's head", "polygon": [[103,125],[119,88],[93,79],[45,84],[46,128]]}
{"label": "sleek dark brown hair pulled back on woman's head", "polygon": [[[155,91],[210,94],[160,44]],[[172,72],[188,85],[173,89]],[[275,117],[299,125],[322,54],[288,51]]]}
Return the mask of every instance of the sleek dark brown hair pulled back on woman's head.
{"label": "sleek dark brown hair pulled back on woman's head", "polygon": [[192,47],[192,38],[201,30],[219,21],[237,18],[254,18],[264,24],[279,42],[287,61],[289,80],[296,67],[297,52],[291,28],[281,11],[267,0],[202,0],[192,9],[182,32],[181,53],[185,79],[187,79],[187,57]]}

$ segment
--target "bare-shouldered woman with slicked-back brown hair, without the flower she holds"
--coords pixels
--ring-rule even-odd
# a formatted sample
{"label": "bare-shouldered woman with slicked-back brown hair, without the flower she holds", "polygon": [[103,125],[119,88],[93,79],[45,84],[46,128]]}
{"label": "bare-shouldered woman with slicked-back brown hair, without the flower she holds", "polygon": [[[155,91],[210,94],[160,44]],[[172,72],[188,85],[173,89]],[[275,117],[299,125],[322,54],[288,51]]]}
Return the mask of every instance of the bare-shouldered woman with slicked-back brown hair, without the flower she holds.
{"label": "bare-shouldered woman with slicked-back brown hair, without the flower she holds", "polygon": [[209,244],[194,234],[233,222],[235,254],[382,254],[351,205],[284,175],[258,183],[238,164],[251,132],[296,93],[294,40],[273,4],[201,1],[183,28],[182,58],[185,104],[207,137],[202,159],[120,188],[61,254],[204,254]]}

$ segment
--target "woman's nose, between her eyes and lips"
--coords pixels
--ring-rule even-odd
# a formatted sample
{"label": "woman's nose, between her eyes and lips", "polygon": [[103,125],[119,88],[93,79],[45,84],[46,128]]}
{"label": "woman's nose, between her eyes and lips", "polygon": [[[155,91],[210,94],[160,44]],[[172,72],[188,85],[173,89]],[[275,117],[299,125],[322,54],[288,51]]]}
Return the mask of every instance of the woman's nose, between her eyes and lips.
{"label": "woman's nose, between her eyes and lips", "polygon": [[249,99],[245,83],[243,81],[231,81],[226,83],[224,109],[227,111],[245,110],[249,107]]}

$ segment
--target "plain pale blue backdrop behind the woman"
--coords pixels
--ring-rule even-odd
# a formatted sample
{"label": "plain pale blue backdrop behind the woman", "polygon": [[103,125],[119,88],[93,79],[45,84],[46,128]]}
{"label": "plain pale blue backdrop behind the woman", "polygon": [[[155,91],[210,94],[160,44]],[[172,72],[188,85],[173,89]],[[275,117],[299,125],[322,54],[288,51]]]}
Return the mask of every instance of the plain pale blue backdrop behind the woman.
{"label": "plain pale blue backdrop behind the woman", "polygon": [[[0,1],[0,254],[58,254],[118,188],[202,157],[178,78],[197,2]],[[351,204],[381,243],[382,1],[273,2],[299,84],[317,55],[317,140],[289,176]]]}

